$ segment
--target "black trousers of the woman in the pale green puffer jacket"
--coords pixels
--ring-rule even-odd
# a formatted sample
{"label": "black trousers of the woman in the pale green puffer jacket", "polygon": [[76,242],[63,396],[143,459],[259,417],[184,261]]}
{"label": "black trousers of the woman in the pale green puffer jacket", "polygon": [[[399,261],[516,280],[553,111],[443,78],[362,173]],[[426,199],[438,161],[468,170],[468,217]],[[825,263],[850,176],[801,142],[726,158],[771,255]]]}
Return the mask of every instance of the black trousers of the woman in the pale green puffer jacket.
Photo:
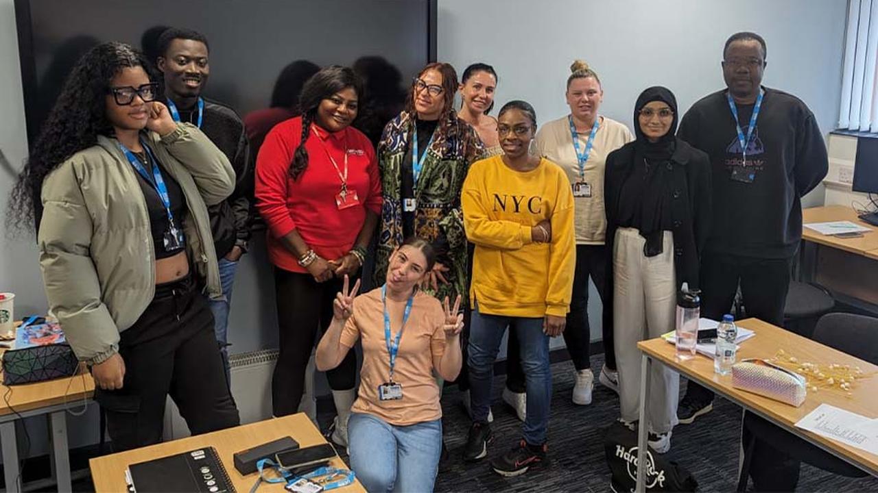
{"label": "black trousers of the woman in the pale green puffer jacket", "polygon": [[213,315],[191,277],[156,286],[152,303],[120,338],[123,387],[95,389],[115,452],[162,440],[168,396],[193,435],[240,424]]}

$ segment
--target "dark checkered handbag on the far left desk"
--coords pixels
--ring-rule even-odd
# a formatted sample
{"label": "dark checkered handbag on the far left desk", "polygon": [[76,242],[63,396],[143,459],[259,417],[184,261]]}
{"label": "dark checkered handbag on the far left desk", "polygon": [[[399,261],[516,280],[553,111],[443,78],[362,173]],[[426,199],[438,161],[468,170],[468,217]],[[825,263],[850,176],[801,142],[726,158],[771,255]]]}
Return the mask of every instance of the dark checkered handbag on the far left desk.
{"label": "dark checkered handbag on the far left desk", "polygon": [[3,354],[3,383],[42,382],[76,375],[79,361],[68,344],[11,349]]}

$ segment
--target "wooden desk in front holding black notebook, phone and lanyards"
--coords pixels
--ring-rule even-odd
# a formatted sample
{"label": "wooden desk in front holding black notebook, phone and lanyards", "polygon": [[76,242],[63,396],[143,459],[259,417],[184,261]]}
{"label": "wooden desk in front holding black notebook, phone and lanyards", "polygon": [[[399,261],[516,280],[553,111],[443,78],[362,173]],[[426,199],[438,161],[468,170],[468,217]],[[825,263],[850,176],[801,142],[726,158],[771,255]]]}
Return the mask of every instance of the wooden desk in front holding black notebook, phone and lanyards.
{"label": "wooden desk in front holding black notebook, phone and lanyards", "polygon": [[[232,455],[245,448],[269,442],[274,439],[291,436],[302,447],[326,443],[326,439],[313,425],[304,413],[273,418],[250,425],[241,425],[219,432],[205,433],[194,437],[176,439],[173,441],[137,448],[119,454],[104,455],[89,461],[91,479],[95,484],[95,491],[110,491],[116,493],[127,491],[125,482],[125,470],[131,464],[143,461],[151,461],[160,457],[180,454],[198,447],[214,447],[226,466],[229,477],[232,479],[234,488],[239,493],[250,490],[256,482],[258,475],[251,474],[242,476],[234,468]],[[332,461],[337,468],[348,468],[338,456]],[[284,491],[283,483],[269,484],[263,482],[259,485],[259,491]],[[339,493],[347,491],[365,491],[359,481],[338,489]]]}

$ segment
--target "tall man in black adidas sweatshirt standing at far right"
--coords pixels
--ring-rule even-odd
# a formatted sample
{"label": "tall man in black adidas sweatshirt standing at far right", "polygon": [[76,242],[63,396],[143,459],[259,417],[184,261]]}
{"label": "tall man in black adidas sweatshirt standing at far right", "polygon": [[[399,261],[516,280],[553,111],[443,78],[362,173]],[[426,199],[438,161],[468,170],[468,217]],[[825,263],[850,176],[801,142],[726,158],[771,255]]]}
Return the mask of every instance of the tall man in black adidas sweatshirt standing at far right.
{"label": "tall man in black adidas sweatshirt standing at far right", "polygon": [[[730,312],[740,282],[748,317],[783,325],[793,255],[802,239],[800,198],[826,175],[824,137],[800,99],[761,85],[766,43],[738,32],[723,49],[727,89],[704,96],[680,121],[680,139],[710,156],[714,220],[702,255],[702,317]],[[690,381],[680,424],[713,408]]]}

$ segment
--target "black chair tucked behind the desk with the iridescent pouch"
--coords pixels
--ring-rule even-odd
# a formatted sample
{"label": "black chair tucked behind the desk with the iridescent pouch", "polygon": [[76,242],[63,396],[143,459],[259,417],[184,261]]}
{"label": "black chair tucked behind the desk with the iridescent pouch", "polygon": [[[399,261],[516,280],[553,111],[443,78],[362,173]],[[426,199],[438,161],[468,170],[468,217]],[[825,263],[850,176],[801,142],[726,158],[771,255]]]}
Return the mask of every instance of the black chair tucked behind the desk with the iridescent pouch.
{"label": "black chair tucked behind the desk with the iridescent pouch", "polygon": [[[830,313],[817,321],[813,339],[860,360],[878,364],[878,318],[852,313]],[[848,477],[867,475],[860,468],[824,452],[752,412],[745,411],[743,426],[742,443],[745,455],[738,478],[738,491],[745,491],[747,487],[754,453],[763,457],[786,456],[786,460],[778,462],[778,468],[774,472],[777,475],[791,475],[788,489],[795,488],[798,482],[800,462]]]}

